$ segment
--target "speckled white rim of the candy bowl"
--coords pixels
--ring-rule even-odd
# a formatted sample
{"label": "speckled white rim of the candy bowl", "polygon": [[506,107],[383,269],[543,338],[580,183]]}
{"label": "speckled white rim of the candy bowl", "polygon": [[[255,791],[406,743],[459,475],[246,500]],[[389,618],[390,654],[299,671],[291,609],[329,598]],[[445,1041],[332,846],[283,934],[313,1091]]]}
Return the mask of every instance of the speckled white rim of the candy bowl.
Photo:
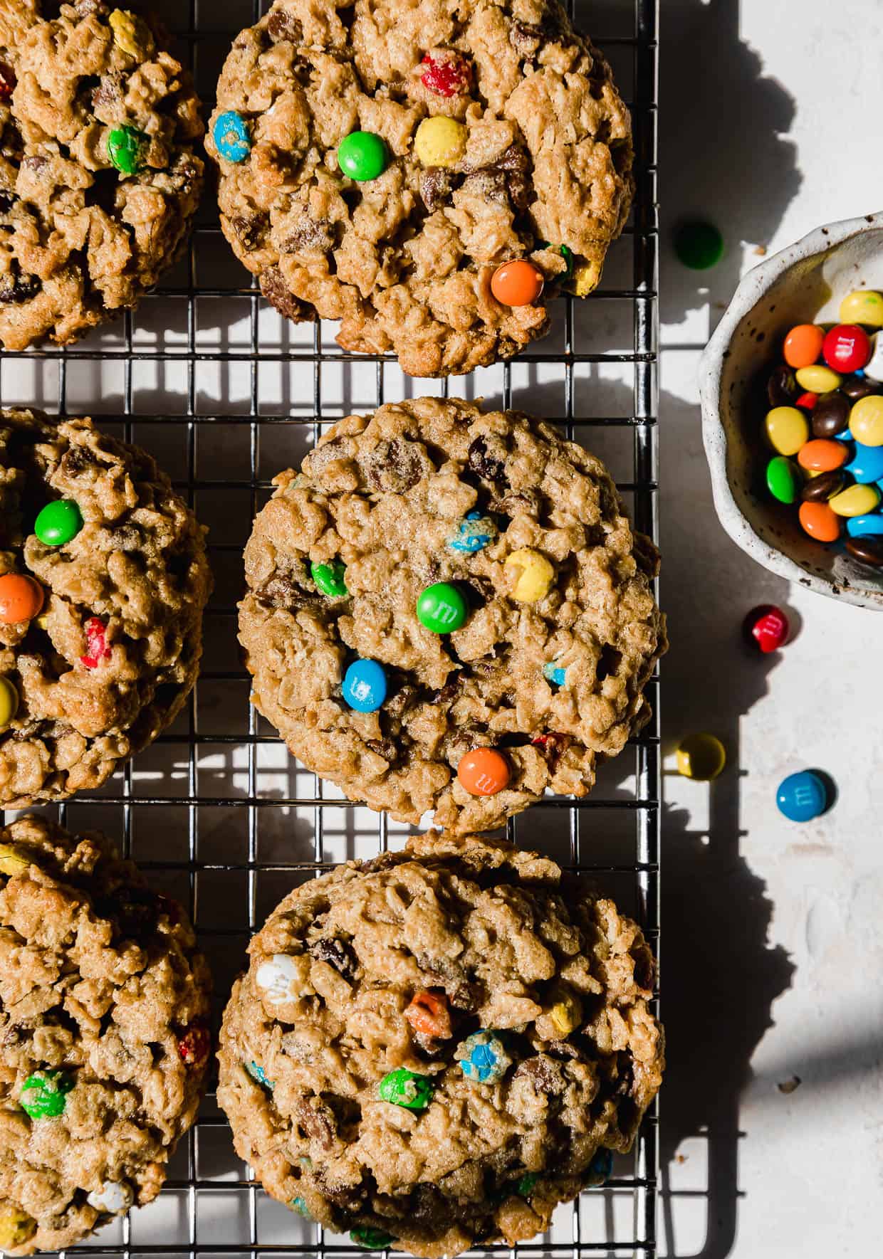
{"label": "speckled white rim of the candy bowl", "polygon": [[753,560],[778,577],[795,582],[805,589],[815,590],[843,603],[883,612],[883,592],[839,585],[831,578],[807,573],[795,560],[770,543],[752,528],[736,501],[727,477],[727,432],[721,419],[721,378],[729,355],[736,329],[758,305],[763,293],[796,262],[812,254],[829,253],[833,247],[870,230],[883,230],[883,210],[862,214],[853,219],[840,219],[814,228],[800,240],[786,246],[771,258],[752,267],[739,281],[721,322],[712,334],[699,360],[699,399],[702,402],[702,437],[705,458],[712,475],[712,494],[718,520],[726,533]]}

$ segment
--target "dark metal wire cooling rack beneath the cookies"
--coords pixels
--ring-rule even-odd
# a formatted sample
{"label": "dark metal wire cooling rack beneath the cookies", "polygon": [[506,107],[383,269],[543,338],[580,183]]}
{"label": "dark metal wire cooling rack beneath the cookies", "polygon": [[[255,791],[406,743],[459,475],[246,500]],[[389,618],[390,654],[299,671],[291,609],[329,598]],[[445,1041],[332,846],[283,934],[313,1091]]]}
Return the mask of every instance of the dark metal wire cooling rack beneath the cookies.
{"label": "dark metal wire cooling rack beneath the cookies", "polygon": [[[249,934],[291,888],[346,857],[401,847],[409,832],[349,805],[293,762],[248,703],[236,643],[242,548],[278,471],[320,428],[384,400],[448,392],[559,422],[600,454],[639,529],[656,538],[658,0],[578,0],[576,21],[611,63],[632,108],[637,198],[587,302],[555,303],[554,330],[516,361],[450,381],[414,381],[390,359],[350,355],[328,324],[295,327],[262,302],[220,234],[213,198],[186,258],[117,325],[72,349],[0,355],[4,405],[98,415],[150,449],[209,526],[215,592],[203,671],[175,726],[106,787],[59,808],[60,821],[115,836],[155,886],[189,901],[213,964],[218,1010]],[[213,99],[232,37],[257,0],[154,0]],[[265,6],[266,8],[266,6]],[[652,723],[602,765],[578,805],[549,797],[510,838],[592,872],[659,939],[658,681]],[[52,812],[52,811],[48,811]],[[524,1255],[656,1255],[656,1110],[603,1190],[561,1207]],[[87,1243],[97,1254],[351,1253],[270,1200],[234,1155],[213,1094],[181,1142],[160,1197]],[[482,1248],[495,1251],[504,1246]]]}

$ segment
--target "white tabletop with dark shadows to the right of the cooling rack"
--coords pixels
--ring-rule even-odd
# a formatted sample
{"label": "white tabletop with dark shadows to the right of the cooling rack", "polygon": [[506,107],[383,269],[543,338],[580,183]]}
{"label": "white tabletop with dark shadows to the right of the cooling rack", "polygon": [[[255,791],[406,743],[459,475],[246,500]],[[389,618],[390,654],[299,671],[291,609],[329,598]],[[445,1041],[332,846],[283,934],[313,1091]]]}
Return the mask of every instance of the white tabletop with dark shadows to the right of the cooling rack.
{"label": "white tabletop with dark shadows to the right of the cooling rack", "polygon": [[[773,578],[724,535],[702,451],[699,351],[757,246],[883,208],[879,0],[661,0],[664,662],[661,1251],[685,1259],[880,1254],[883,617]],[[727,238],[713,272],[673,256],[681,214]],[[707,286],[707,287],[705,287]],[[773,660],[739,623],[797,626]],[[671,749],[717,733],[713,784]],[[799,826],[792,771],[838,783]],[[777,1084],[800,1076],[783,1094]],[[679,1160],[684,1160],[683,1162]]]}

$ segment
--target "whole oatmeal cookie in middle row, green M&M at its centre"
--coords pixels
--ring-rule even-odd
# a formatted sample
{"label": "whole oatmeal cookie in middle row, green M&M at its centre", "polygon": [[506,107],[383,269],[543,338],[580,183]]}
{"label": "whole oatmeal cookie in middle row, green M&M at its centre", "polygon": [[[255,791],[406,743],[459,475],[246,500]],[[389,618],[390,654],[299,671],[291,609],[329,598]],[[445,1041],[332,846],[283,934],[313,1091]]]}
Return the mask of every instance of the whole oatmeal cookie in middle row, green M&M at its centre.
{"label": "whole oatmeal cookie in middle row, green M&M at its centre", "polygon": [[253,701],[350,799],[456,831],[584,796],[649,718],[658,555],[545,423],[422,398],[283,472],[246,548]]}

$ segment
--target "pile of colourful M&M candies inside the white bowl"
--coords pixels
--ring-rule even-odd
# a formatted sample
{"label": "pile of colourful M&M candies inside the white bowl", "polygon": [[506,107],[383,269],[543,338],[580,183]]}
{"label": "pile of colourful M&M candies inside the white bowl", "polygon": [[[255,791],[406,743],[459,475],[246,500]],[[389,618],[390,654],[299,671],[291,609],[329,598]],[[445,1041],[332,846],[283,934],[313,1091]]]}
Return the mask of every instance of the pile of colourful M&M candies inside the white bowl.
{"label": "pile of colourful M&M candies inside the white bowl", "polygon": [[883,568],[883,295],[852,292],[839,316],[785,337],[767,381],[766,488],[816,541]]}

